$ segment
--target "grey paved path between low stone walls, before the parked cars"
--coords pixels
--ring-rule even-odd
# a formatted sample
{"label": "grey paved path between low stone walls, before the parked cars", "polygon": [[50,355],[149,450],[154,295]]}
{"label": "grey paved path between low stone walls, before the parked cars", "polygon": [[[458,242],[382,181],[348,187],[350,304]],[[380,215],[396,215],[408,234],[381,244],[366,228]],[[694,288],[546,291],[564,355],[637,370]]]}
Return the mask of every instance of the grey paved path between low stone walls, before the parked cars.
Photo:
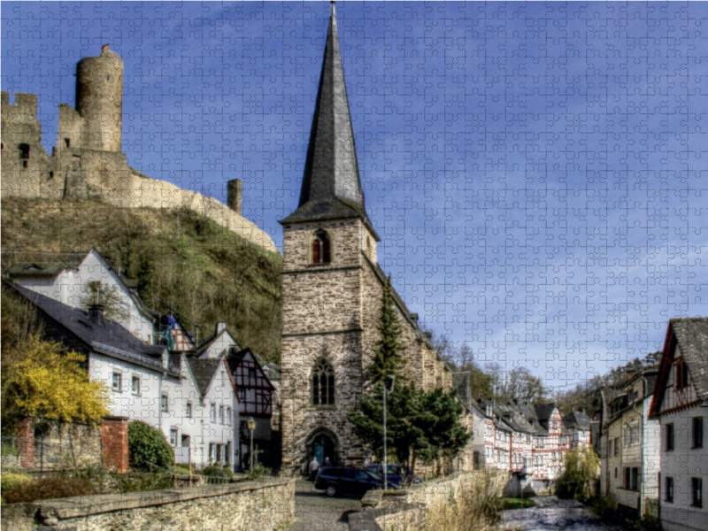
{"label": "grey paved path between low stone walls, before the parked cars", "polygon": [[315,490],[310,481],[297,481],[296,521],[288,531],[349,531],[347,515],[358,511],[361,511],[358,498],[330,498],[324,491]]}

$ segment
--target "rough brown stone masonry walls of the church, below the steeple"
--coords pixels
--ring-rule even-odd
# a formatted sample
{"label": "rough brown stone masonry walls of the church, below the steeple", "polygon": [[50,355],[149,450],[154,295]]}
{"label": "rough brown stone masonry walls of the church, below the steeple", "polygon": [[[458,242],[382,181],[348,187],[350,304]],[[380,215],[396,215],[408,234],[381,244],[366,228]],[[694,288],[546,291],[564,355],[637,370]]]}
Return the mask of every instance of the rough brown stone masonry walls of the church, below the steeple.
{"label": "rough brown stone masonry walls of the church, below the steeple", "polygon": [[[331,263],[311,264],[319,229],[331,242]],[[339,445],[336,464],[362,465],[363,445],[346,412],[358,404],[366,366],[379,340],[383,284],[362,248],[373,241],[361,219],[284,227],[282,275],[283,469],[304,472],[309,437],[325,428]],[[375,257],[375,249],[371,249]],[[419,387],[451,389],[452,377],[404,306],[396,305],[404,345],[404,373]],[[312,369],[326,358],[335,370],[335,405],[311,404]],[[332,456],[329,456],[332,458]],[[336,458],[336,456],[335,456]],[[432,473],[432,468],[431,471]]]}

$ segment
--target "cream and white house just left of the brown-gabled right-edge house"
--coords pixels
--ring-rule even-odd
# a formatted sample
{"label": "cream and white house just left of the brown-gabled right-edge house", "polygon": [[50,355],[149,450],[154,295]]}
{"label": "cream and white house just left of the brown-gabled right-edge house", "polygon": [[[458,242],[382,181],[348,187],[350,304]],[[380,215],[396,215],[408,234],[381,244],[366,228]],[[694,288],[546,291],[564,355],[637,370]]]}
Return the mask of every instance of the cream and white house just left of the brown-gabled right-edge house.
{"label": "cream and white house just left of the brown-gabled right-edge house", "polygon": [[657,374],[657,367],[630,373],[620,389],[604,394],[600,492],[637,516],[658,495],[659,426],[649,418]]}

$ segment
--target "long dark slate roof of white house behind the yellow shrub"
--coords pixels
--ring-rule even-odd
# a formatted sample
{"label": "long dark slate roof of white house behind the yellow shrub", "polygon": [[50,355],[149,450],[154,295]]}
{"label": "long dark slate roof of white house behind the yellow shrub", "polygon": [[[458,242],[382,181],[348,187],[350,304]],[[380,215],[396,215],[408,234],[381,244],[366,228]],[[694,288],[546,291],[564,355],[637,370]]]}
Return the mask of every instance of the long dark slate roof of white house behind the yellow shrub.
{"label": "long dark slate roof of white house behind the yellow shrub", "polygon": [[[20,296],[34,304],[42,313],[42,317],[50,321],[51,327],[73,336],[86,347],[86,350],[100,352],[154,370],[164,370],[162,356],[166,350],[165,346],[145,344],[115,321],[91,319],[89,314],[80,308],[59,303],[11,281],[4,281],[4,286],[14,289]],[[171,373],[172,370],[168,369],[167,372]],[[179,373],[173,375],[179,376]]]}

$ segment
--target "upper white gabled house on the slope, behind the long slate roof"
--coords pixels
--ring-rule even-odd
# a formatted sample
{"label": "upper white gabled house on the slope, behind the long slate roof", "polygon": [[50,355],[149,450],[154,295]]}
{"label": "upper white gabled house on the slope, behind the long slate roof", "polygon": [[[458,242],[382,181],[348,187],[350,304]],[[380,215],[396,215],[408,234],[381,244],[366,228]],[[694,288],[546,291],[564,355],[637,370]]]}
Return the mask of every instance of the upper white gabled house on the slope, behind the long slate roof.
{"label": "upper white gabled house on the slope, behind the long slate roof", "polygon": [[156,343],[155,318],[137,296],[137,286],[129,281],[96,249],[83,258],[64,262],[19,262],[12,264],[7,276],[19,286],[31,289],[73,308],[88,307],[92,293],[110,291],[119,308],[116,322],[150,344]]}

